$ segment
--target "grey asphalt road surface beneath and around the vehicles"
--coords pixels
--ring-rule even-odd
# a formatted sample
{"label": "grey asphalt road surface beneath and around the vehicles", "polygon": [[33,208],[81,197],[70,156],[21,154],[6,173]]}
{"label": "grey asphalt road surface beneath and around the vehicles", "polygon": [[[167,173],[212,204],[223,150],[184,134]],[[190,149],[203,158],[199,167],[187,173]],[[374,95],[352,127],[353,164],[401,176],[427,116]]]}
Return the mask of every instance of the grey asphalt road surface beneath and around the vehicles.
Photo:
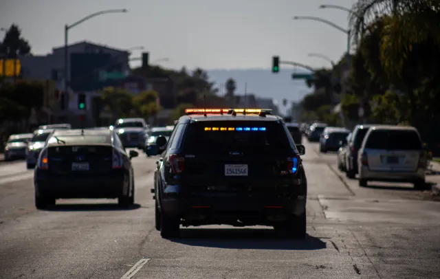
{"label": "grey asphalt road surface beneath and around the vehicles", "polygon": [[305,241],[271,228],[206,226],[164,240],[154,229],[155,158],[133,159],[136,205],[57,201],[34,208],[33,173],[0,165],[0,278],[440,278],[440,203],[409,186],[359,188],[336,155],[305,142]]}

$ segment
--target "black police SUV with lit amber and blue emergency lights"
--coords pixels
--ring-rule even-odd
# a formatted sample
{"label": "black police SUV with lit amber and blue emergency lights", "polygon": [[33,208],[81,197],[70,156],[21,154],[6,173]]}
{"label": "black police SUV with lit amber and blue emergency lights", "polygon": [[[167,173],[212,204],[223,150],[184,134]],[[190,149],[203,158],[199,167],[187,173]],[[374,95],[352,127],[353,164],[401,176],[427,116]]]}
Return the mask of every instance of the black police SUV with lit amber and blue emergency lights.
{"label": "black police SUV with lit amber and blue emergency lights", "polygon": [[[306,234],[307,179],[282,118],[263,109],[187,109],[154,175],[155,227],[162,237],[179,226],[273,226]],[[166,147],[164,147],[166,146]],[[153,154],[156,155],[156,154]]]}

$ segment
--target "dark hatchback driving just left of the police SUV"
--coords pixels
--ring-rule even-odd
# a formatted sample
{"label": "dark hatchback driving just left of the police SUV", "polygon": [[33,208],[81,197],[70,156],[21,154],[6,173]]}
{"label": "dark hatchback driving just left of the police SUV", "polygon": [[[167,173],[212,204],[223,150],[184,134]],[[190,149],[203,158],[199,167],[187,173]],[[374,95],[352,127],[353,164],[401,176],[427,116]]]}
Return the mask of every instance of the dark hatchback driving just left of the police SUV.
{"label": "dark hatchback driving just left of the police SUV", "polygon": [[104,129],[57,130],[41,150],[34,170],[35,206],[43,209],[56,199],[118,199],[134,202],[131,158],[118,135]]}

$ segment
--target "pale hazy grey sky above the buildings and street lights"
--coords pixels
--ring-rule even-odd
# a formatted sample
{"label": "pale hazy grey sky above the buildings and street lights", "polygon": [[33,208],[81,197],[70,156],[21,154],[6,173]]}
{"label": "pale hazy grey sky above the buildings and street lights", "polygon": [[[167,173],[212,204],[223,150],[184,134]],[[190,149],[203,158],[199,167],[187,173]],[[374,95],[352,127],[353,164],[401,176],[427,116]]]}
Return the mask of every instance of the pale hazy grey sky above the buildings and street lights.
{"label": "pale hazy grey sky above the buildings and street lights", "polygon": [[[0,0],[0,27],[17,23],[34,54],[63,44],[65,23],[100,10],[126,8],[126,14],[104,14],[69,31],[69,43],[92,41],[118,48],[144,46],[150,59],[179,69],[268,68],[271,57],[313,67],[328,66],[314,52],[338,60],[347,35],[316,21],[292,16],[320,16],[347,27],[347,12],[319,9],[320,4],[347,8],[355,0]],[[0,34],[3,36],[3,34]],[[132,57],[140,56],[140,50]]]}

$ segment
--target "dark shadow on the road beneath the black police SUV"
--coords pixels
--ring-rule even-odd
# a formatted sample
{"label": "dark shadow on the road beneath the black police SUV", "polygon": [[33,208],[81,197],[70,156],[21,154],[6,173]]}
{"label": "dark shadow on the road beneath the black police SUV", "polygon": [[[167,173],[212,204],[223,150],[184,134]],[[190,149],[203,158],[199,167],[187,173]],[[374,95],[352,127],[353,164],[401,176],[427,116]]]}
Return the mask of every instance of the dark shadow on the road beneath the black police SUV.
{"label": "dark shadow on the road beneath the black police SUV", "polygon": [[170,241],[190,246],[223,249],[318,250],[326,243],[307,235],[303,240],[283,238],[273,229],[181,229]]}

